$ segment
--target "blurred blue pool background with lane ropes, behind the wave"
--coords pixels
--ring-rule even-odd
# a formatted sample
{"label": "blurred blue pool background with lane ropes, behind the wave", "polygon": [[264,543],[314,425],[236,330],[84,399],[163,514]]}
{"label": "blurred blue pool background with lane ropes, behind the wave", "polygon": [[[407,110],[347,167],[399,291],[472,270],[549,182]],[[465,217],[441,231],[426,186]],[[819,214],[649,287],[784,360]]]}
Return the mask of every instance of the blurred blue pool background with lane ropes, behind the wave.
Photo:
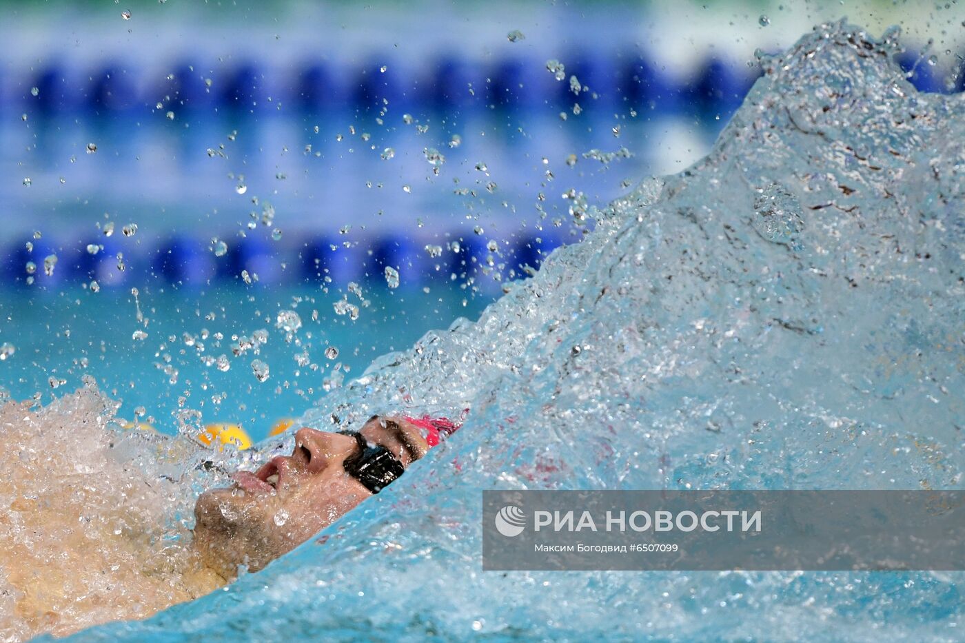
{"label": "blurred blue pool background with lane ropes, behind the wave", "polygon": [[[755,52],[842,8],[962,89],[937,5],[2,3],[0,386],[89,374],[161,431],[260,438],[700,158]],[[263,382],[232,350],[260,328]]]}

